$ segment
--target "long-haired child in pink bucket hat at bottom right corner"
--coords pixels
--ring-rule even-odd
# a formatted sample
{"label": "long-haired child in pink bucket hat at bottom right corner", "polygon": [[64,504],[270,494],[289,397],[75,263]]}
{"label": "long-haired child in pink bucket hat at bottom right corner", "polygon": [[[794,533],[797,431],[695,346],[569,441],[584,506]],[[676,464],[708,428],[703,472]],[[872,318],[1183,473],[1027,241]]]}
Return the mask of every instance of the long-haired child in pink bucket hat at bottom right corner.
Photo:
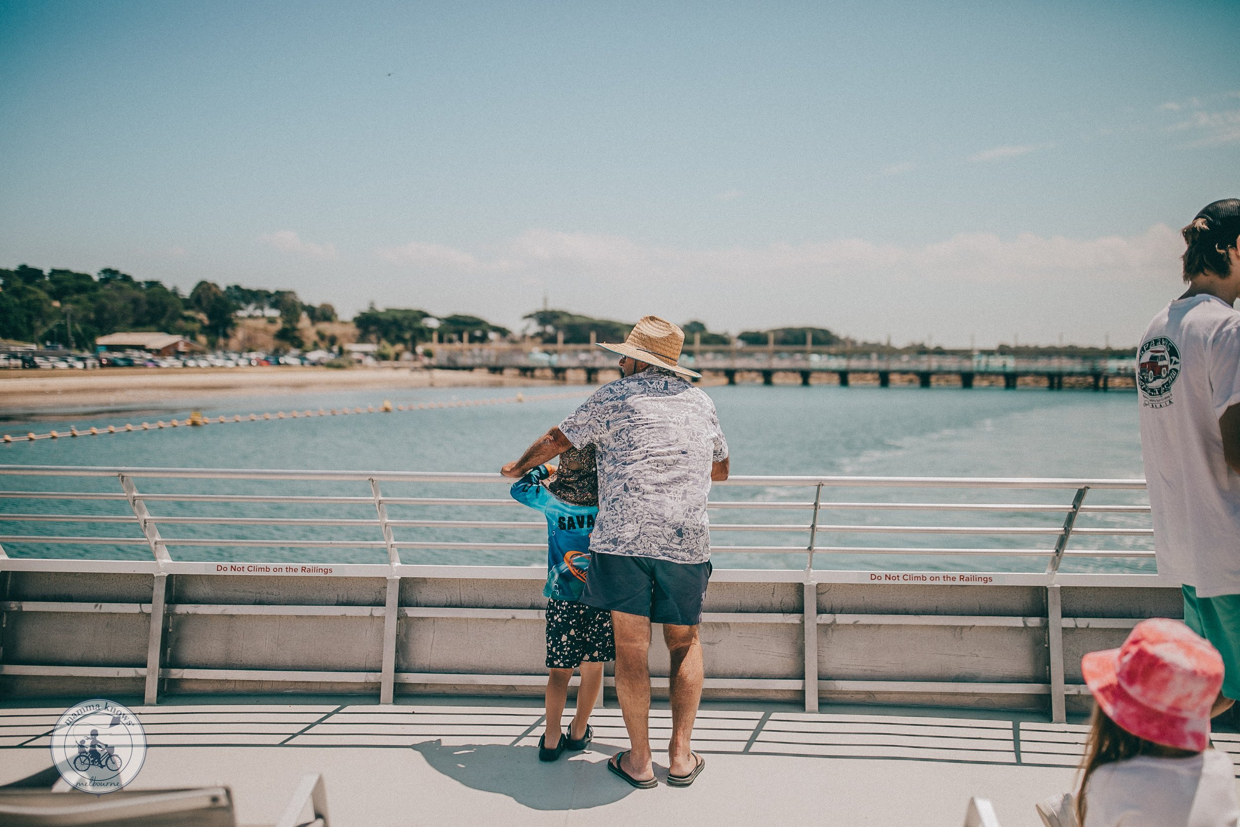
{"label": "long-haired child in pink bucket hat at bottom right corner", "polygon": [[1136,625],[1120,648],[1081,658],[1094,720],[1076,820],[1081,827],[1235,826],[1235,769],[1209,748],[1223,657],[1178,620]]}

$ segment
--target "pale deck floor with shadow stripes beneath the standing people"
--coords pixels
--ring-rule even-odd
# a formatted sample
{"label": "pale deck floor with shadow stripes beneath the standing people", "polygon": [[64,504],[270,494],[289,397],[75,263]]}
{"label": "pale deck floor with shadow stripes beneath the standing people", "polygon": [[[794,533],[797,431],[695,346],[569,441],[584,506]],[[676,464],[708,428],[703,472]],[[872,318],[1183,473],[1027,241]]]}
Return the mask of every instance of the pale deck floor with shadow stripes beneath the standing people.
{"label": "pale deck floor with shadow stripes beneath the standing people", "polygon": [[[735,708],[743,707],[743,708]],[[331,823],[516,826],[618,823],[959,827],[970,796],[1004,827],[1038,827],[1033,805],[1071,789],[1080,724],[1012,713],[893,714],[708,703],[694,745],[707,767],[687,790],[635,790],[604,761],[627,746],[619,710],[599,709],[589,751],[537,760],[542,710],[513,699],[408,705],[136,707],[151,749],[136,785],[232,787],[243,823],[274,821],[301,775],[322,772]],[[0,709],[0,784],[48,764],[60,708]],[[897,714],[898,713],[898,714]],[[652,710],[656,749],[668,713]],[[565,717],[567,725],[567,717]],[[1216,744],[1240,754],[1240,735]],[[660,760],[656,753],[656,761]],[[656,767],[662,776],[666,765]]]}

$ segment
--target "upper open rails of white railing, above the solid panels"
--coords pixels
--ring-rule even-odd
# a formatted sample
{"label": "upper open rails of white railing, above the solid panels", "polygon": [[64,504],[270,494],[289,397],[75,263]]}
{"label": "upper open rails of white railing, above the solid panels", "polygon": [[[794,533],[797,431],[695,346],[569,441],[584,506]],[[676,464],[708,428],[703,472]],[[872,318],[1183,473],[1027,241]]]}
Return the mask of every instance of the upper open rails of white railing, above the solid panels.
{"label": "upper open rails of white railing, above the solid panels", "polygon": [[[2,544],[43,546],[48,549],[60,546],[79,547],[148,547],[156,560],[171,560],[169,548],[350,548],[382,549],[389,564],[401,564],[402,549],[418,551],[480,551],[480,552],[532,552],[544,551],[546,542],[522,542],[507,536],[510,532],[543,531],[541,520],[502,520],[496,515],[479,515],[479,511],[495,507],[518,506],[508,497],[460,497],[460,496],[391,496],[384,495],[381,484],[434,486],[443,493],[444,486],[460,485],[508,485],[512,481],[498,474],[470,472],[424,472],[424,471],[298,471],[298,470],[234,470],[234,469],[164,469],[164,467],[74,467],[7,465],[0,466],[0,476],[27,480],[26,490],[4,486],[0,490],[0,523],[33,528],[47,523],[92,526],[117,526],[136,529],[129,536],[72,533],[0,533],[0,554]],[[47,477],[87,477],[99,481],[115,481],[115,491],[73,491],[40,489],[30,486],[31,480]],[[166,486],[169,481],[200,480],[221,481],[233,485],[249,485],[253,492],[202,492],[202,491],[151,491],[139,490],[148,481],[157,481],[156,487]],[[342,493],[277,493],[277,484],[367,484],[365,495]],[[859,476],[734,476],[717,486],[724,489],[805,489],[812,491],[813,498],[806,500],[715,500],[709,503],[712,511],[782,511],[797,515],[796,522],[725,522],[712,521],[712,533],[730,537],[734,533],[761,533],[776,538],[787,537],[790,542],[770,542],[766,544],[714,543],[714,553],[749,554],[796,554],[805,558],[805,567],[812,570],[816,555],[866,554],[866,555],[961,555],[961,557],[1006,557],[1006,558],[1044,558],[1045,572],[1055,573],[1065,558],[1130,558],[1149,559],[1151,548],[1070,548],[1073,538],[1081,537],[1123,537],[1149,538],[1152,528],[1148,524],[1104,524],[1078,526],[1083,516],[1127,516],[1138,517],[1142,523],[1149,507],[1142,503],[1096,502],[1085,503],[1090,491],[1141,491],[1143,480],[1091,480],[1091,479],[1017,479],[1017,477],[859,477]],[[898,491],[904,489],[957,490],[968,489],[988,492],[997,491],[1064,491],[1071,492],[1070,502],[925,502],[925,501],[858,501],[849,498],[836,501],[830,496],[835,489],[882,489]],[[40,507],[24,510],[10,507],[20,501],[40,503]],[[81,507],[52,508],[48,501],[58,503],[91,503],[95,513],[82,511]],[[119,513],[104,513],[104,503],[124,503]],[[268,513],[262,516],[237,515],[241,506],[265,505]],[[180,512],[153,513],[149,507],[171,506]],[[211,506],[229,507],[233,513],[210,513]],[[337,506],[340,508],[331,508]],[[334,513],[336,511],[365,507],[367,517],[350,517]],[[314,507],[309,516],[286,516],[299,507]],[[392,516],[389,508],[398,507],[399,516]],[[434,513],[413,515],[405,510],[420,507]],[[192,513],[186,513],[192,510]],[[466,517],[458,513],[465,511]],[[474,513],[470,515],[469,512]],[[875,516],[883,512],[911,512],[914,515],[937,515],[940,520],[955,515],[983,515],[991,524],[976,524],[985,520],[973,520],[960,524],[955,521],[940,524],[918,522],[836,522],[830,515],[853,512]],[[205,513],[206,512],[206,513]],[[277,516],[280,515],[280,516]],[[479,518],[487,516],[491,518]],[[1019,524],[1022,516],[1042,518],[1033,524]],[[1061,516],[1063,521],[1047,522],[1050,516]],[[1131,521],[1130,521],[1131,522]],[[227,536],[203,533],[210,527],[232,528]],[[239,529],[239,531],[237,531]],[[347,537],[324,536],[329,529],[347,529]],[[188,531],[188,533],[186,533]],[[470,532],[469,537],[453,536],[451,532]],[[361,533],[358,533],[361,532]],[[1029,539],[1027,547],[990,546],[926,547],[915,544],[870,544],[852,546],[839,542],[839,537],[885,534],[898,537],[934,538],[944,536],[1001,538],[999,542]],[[800,536],[800,537],[799,537]],[[1045,542],[1038,544],[1038,539]],[[1148,543],[1146,543],[1148,544]],[[48,554],[43,557],[56,557]],[[343,560],[340,560],[343,562]]]}

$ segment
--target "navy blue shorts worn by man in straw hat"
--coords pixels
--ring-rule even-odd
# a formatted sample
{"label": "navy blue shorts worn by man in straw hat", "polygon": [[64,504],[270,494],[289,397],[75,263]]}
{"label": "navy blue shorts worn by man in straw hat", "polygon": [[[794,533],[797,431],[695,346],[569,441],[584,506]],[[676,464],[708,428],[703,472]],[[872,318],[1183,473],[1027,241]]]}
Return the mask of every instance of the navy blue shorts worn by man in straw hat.
{"label": "navy blue shorts worn by man in straw hat", "polygon": [[650,617],[655,624],[697,626],[711,580],[711,562],[673,563],[650,557],[590,552],[582,603]]}

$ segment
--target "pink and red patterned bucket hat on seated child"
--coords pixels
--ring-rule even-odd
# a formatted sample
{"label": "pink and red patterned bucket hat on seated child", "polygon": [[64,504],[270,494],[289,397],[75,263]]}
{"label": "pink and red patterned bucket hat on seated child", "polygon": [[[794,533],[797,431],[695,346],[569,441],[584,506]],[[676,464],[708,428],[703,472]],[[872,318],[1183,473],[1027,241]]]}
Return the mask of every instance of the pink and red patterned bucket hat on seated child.
{"label": "pink and red patterned bucket hat on seated child", "polygon": [[1184,624],[1142,620],[1120,648],[1083,657],[1081,672],[1102,712],[1133,735],[1194,753],[1205,749],[1223,657]]}

